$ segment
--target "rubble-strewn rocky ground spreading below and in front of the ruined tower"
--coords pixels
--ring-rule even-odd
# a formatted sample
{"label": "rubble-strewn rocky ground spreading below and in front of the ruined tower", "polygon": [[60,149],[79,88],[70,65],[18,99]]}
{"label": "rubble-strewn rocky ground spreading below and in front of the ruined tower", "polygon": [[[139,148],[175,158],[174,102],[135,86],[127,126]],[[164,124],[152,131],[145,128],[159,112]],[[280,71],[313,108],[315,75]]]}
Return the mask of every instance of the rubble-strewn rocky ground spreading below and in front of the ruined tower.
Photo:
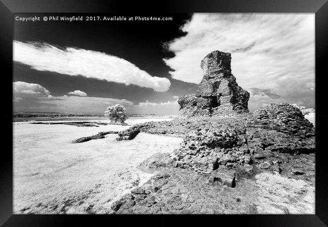
{"label": "rubble-strewn rocky ground spreading below and in front of the ruined tower", "polygon": [[140,164],[157,174],[116,201],[113,213],[314,213],[315,130],[289,104],[231,118],[146,122],[117,140],[139,131],[183,142]]}

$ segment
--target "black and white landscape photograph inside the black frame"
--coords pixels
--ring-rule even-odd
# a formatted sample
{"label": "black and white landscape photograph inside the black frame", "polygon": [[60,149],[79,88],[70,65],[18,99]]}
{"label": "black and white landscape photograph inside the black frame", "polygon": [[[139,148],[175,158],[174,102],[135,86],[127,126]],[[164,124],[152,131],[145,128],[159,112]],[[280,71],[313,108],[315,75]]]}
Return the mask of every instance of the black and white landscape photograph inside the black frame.
{"label": "black and white landscape photograph inside the black frame", "polygon": [[14,214],[315,214],[314,13],[15,13]]}

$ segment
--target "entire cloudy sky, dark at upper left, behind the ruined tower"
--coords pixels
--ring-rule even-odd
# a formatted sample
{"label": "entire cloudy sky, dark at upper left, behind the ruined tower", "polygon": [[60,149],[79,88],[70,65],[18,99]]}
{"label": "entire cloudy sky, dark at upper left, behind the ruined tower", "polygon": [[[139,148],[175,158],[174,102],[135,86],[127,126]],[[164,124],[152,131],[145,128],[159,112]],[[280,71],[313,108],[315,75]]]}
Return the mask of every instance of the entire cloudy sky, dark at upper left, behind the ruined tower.
{"label": "entire cloudy sky, dark at upper left, behind the ruined tower", "polygon": [[[49,16],[15,14],[35,15]],[[14,110],[102,113],[121,104],[129,114],[178,114],[178,97],[196,92],[200,61],[215,50],[231,53],[250,111],[274,102],[315,108],[314,14],[155,16],[173,20],[15,21]]]}

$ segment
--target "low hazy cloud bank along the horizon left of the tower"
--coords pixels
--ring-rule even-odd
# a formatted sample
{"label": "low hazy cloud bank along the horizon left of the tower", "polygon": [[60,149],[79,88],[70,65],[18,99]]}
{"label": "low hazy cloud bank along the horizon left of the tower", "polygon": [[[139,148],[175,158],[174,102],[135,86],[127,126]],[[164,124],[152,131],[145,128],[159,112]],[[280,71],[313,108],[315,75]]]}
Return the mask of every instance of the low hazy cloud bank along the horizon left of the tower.
{"label": "low hazy cloud bank along the horizon left of the tower", "polygon": [[149,101],[134,105],[126,99],[112,99],[100,97],[82,97],[76,94],[83,93],[80,90],[72,92],[74,96],[50,95],[49,90],[40,84],[14,82],[13,102],[16,112],[64,112],[64,113],[103,113],[108,106],[121,104],[127,109],[128,114],[178,114],[177,101],[151,103]]}

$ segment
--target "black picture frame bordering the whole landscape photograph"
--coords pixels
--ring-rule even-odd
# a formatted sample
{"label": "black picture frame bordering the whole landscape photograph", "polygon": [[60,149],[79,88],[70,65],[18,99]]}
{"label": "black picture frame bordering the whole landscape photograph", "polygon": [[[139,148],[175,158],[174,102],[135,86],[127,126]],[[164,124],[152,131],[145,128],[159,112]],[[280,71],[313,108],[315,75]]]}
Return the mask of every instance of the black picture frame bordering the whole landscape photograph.
{"label": "black picture frame bordering the whole landscape photograph", "polygon": [[[74,0],[1,0],[0,3],[0,45],[1,63],[4,73],[2,78],[9,80],[13,72],[13,14],[14,13],[117,13],[117,12],[217,12],[217,13],[315,13],[315,109],[316,109],[316,184],[315,214],[313,215],[210,215],[199,218],[197,215],[180,216],[186,224],[196,220],[203,223],[212,220],[217,224],[228,222],[229,225],[243,226],[327,226],[328,225],[328,177],[327,152],[325,151],[327,128],[327,104],[325,102],[328,50],[328,3],[327,0],[183,0],[183,1],[74,1]],[[12,101],[8,98],[12,87],[10,81],[3,82],[1,89],[6,108],[3,107],[3,144],[10,144],[13,125],[9,112]],[[8,127],[8,129],[7,129]],[[10,133],[12,131],[12,133]],[[13,144],[12,144],[13,147]],[[155,215],[146,218],[133,218],[120,215],[15,215],[13,214],[13,160],[10,146],[3,146],[0,158],[0,225],[1,226],[81,226],[114,224],[114,219],[124,225],[135,224],[154,219],[161,224],[176,224],[171,217]],[[142,216],[142,215],[141,215]],[[176,216],[175,216],[176,217]],[[149,219],[148,219],[149,218]],[[120,219],[120,220],[118,220]],[[89,224],[92,221],[93,224]],[[149,224],[154,223],[150,222]]]}

